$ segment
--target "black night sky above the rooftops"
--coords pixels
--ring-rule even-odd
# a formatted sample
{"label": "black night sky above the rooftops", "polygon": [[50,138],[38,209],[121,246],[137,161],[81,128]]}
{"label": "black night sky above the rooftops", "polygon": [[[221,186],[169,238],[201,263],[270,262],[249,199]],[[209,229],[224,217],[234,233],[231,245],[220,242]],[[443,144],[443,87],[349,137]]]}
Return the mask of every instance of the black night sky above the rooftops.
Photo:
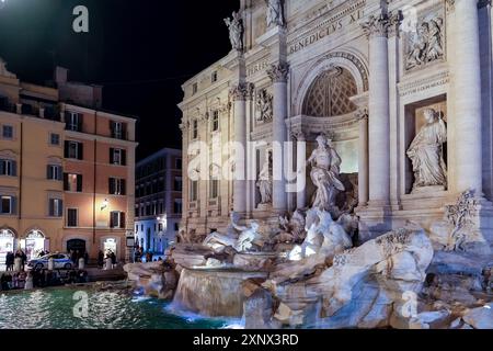
{"label": "black night sky above the rooftops", "polygon": [[[72,31],[72,10],[89,9],[90,32]],[[238,0],[7,0],[0,57],[27,82],[55,65],[69,79],[104,86],[104,110],[137,116],[138,157],[181,147],[182,83],[230,49],[222,19]]]}

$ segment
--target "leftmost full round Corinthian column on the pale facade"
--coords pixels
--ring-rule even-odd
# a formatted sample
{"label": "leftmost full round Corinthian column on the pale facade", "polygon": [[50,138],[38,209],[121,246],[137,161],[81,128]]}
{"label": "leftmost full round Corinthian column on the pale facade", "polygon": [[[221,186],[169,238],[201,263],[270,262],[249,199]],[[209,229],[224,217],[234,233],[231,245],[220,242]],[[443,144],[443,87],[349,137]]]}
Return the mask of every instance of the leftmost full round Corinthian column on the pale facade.
{"label": "leftmost full round Corinthian column on the pale facade", "polygon": [[231,90],[234,100],[234,178],[233,178],[233,211],[240,214],[246,212],[246,99],[253,92],[248,83],[239,83]]}

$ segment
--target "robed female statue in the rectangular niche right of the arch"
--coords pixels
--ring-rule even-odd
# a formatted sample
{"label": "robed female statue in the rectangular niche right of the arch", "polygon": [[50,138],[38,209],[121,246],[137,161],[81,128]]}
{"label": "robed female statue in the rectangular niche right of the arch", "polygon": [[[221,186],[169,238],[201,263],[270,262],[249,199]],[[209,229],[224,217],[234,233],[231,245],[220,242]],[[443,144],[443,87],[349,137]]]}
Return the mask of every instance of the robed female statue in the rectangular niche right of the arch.
{"label": "robed female statue in the rectangular niche right of the arch", "polygon": [[423,186],[447,186],[447,166],[444,160],[444,144],[447,126],[433,109],[424,111],[426,124],[421,128],[408,150],[413,163],[414,189]]}

